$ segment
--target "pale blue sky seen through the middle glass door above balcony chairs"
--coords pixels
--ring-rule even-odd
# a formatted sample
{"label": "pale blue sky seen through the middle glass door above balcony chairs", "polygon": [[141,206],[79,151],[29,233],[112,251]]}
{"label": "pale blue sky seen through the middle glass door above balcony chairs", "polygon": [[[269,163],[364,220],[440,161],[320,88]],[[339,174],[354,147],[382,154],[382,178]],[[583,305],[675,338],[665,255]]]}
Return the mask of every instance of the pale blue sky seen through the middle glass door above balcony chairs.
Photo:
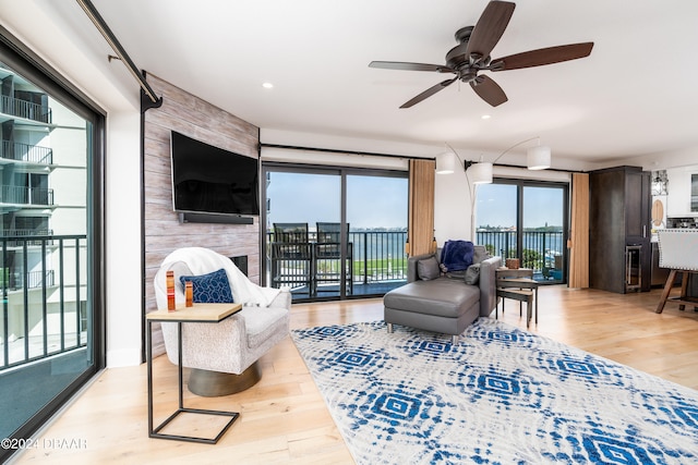
{"label": "pale blue sky seen through the middle glass door above balcony chairs", "polygon": [[[272,172],[267,186],[270,228],[275,222],[339,222],[341,179],[334,174]],[[407,228],[406,178],[347,176],[350,228]],[[321,194],[318,194],[321,193]]]}

